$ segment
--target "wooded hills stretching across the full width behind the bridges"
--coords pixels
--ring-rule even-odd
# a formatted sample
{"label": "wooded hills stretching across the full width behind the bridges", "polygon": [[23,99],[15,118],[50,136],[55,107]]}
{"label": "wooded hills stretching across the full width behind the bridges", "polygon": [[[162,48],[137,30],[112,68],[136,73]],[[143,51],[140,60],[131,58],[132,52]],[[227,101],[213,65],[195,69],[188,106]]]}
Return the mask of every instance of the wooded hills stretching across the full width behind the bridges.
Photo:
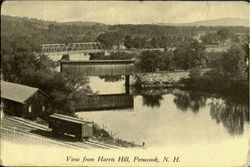
{"label": "wooded hills stretching across the full width behind the bridges", "polygon": [[[1,16],[2,54],[26,49],[40,52],[47,43],[99,41],[106,49],[124,44],[127,48],[172,48],[200,39],[203,44],[248,42],[247,27],[189,27],[162,25],[105,25],[78,22],[58,23],[37,19]],[[21,42],[20,42],[21,41]]]}

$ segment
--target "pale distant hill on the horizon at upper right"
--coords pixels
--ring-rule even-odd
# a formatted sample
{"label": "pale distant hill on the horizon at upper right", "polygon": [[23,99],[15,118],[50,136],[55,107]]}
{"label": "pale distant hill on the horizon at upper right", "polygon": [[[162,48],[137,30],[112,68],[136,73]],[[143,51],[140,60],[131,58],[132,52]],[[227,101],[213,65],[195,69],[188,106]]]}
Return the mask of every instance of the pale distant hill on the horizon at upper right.
{"label": "pale distant hill on the horizon at upper right", "polygon": [[249,20],[240,18],[221,18],[212,20],[196,21],[191,23],[166,23],[160,25],[172,25],[172,26],[243,26],[249,27]]}

